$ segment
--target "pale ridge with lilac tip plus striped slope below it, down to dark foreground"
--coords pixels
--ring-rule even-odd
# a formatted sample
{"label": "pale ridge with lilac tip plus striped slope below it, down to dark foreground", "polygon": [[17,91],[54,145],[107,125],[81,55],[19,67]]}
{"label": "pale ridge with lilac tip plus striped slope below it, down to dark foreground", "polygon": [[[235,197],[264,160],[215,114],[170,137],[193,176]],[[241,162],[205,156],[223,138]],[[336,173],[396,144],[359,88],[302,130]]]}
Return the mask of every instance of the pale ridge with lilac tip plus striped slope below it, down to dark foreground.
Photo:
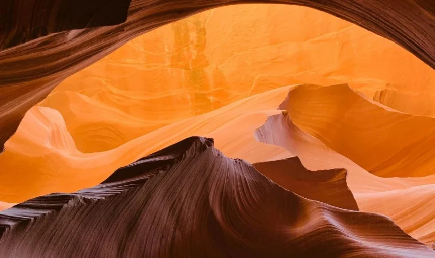
{"label": "pale ridge with lilac tip plus striped slope below it, down to dark foreground", "polygon": [[[331,130],[336,129],[331,127]],[[435,175],[377,177],[300,130],[286,111],[270,116],[256,130],[255,136],[259,141],[286,148],[310,170],[345,168],[348,171],[346,183],[361,211],[384,214],[419,241],[428,245],[435,242]],[[275,175],[270,173],[268,176],[273,178]],[[282,185],[285,181],[276,182]]]}

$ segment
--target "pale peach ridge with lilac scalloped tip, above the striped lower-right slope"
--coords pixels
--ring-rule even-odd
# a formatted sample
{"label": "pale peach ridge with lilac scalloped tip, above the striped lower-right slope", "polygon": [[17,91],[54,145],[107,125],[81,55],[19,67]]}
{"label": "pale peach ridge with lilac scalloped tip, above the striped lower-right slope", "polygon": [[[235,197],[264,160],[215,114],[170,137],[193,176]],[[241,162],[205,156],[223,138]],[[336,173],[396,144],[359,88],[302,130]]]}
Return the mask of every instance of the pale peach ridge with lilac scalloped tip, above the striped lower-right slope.
{"label": "pale peach ridge with lilac scalloped tip, above the striped lower-right slope", "polygon": [[355,164],[349,158],[328,148],[319,139],[303,132],[290,119],[288,113],[269,116],[255,131],[258,141],[282,146],[297,155],[309,170],[345,168],[348,171],[347,184],[357,198],[359,194],[370,194],[414,186],[435,184],[435,175],[414,178],[381,178]]}

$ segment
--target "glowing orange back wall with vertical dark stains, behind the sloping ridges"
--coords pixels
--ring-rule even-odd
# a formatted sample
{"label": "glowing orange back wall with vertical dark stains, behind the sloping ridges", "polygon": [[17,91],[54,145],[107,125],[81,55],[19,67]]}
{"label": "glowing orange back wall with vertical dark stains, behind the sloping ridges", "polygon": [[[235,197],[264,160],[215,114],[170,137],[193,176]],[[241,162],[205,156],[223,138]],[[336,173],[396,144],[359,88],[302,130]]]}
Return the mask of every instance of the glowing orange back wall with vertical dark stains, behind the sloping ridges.
{"label": "glowing orange back wall with vertical dark stains, behind the sloping ridges", "polygon": [[90,153],[298,83],[349,83],[371,97],[387,83],[435,87],[435,70],[394,42],[312,8],[235,5],[130,40],[38,105],[57,109],[77,149]]}

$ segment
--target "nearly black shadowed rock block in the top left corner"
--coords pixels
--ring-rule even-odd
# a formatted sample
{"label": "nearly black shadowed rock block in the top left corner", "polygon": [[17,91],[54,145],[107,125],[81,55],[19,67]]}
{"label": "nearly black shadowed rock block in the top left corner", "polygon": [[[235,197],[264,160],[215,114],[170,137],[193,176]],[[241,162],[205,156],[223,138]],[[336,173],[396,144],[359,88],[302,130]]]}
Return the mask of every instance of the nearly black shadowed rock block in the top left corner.
{"label": "nearly black shadowed rock block in the top left corner", "polygon": [[125,22],[131,0],[0,2],[0,50],[52,33]]}

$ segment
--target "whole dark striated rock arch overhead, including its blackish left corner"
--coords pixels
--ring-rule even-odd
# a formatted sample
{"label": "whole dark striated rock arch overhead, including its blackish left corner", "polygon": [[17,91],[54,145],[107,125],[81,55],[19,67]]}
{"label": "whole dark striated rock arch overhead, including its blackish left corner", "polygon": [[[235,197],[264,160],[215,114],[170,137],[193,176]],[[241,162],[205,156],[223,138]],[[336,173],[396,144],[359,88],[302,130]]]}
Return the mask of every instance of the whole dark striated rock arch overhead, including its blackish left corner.
{"label": "whole dark striated rock arch overhead, including its blackish left corner", "polygon": [[[0,36],[0,146],[16,131],[27,110],[66,77],[136,36],[219,6],[276,3],[315,8],[393,40],[435,68],[435,1],[432,0],[77,0],[74,5],[67,2],[71,3],[5,0],[0,4],[0,17],[12,17],[0,19],[0,33],[3,33]],[[111,26],[98,27],[102,25]],[[25,36],[17,39],[17,33]]]}

